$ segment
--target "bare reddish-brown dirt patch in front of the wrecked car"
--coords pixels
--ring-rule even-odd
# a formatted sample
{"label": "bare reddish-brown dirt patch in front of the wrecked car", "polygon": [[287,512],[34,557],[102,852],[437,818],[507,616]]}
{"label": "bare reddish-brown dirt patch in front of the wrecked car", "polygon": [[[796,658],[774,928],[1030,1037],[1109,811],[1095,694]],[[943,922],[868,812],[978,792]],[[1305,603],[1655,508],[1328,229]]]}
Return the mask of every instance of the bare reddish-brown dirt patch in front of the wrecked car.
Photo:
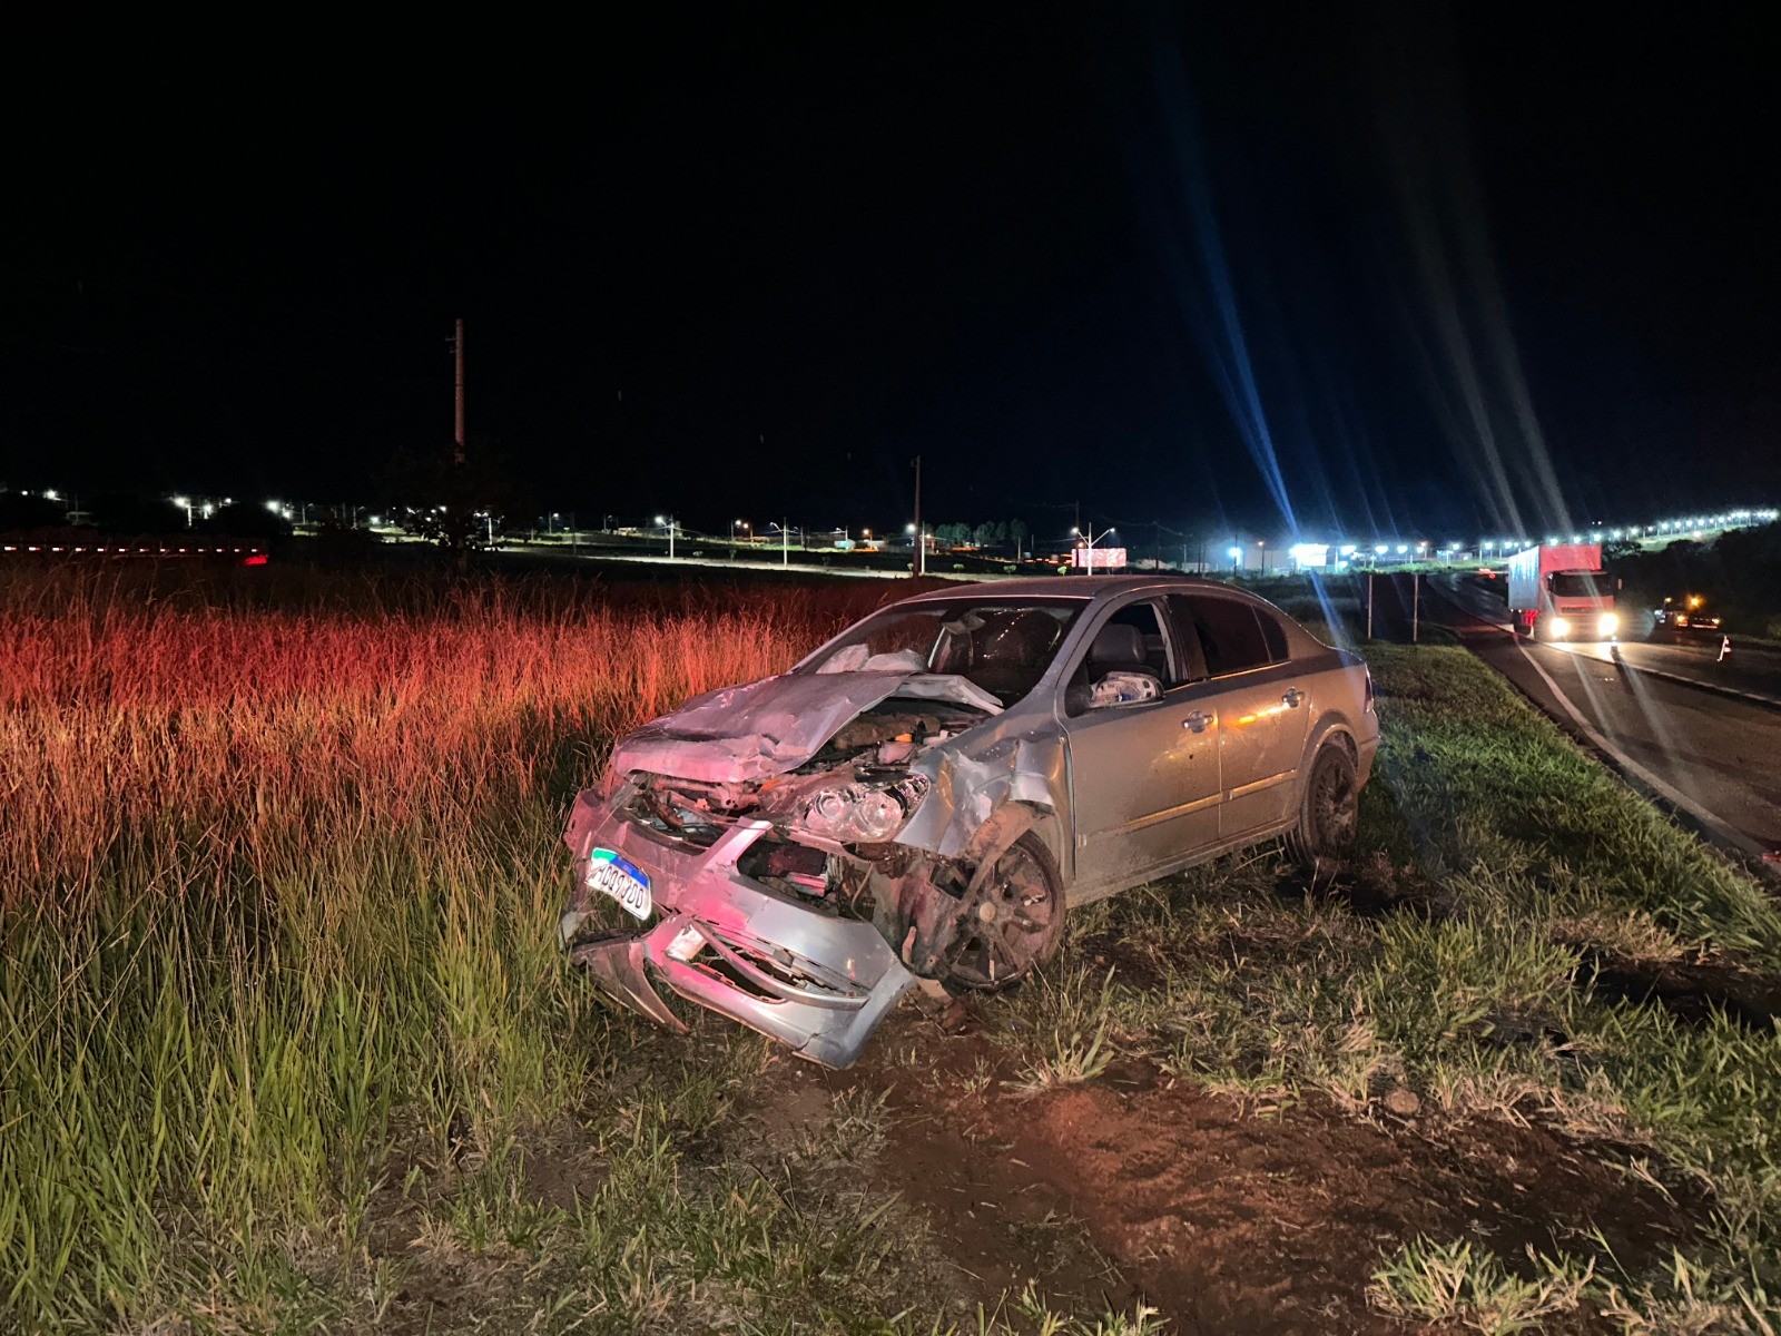
{"label": "bare reddish-brown dirt patch in front of the wrecked car", "polygon": [[1640,1263],[1687,1242],[1699,1210],[1537,1126],[1425,1133],[1314,1101],[1257,1113],[1134,1060],[1038,1096],[1008,1074],[985,1039],[905,1008],[848,1072],[777,1065],[760,1112],[800,1122],[846,1092],[885,1097],[873,1172],[987,1302],[1033,1279],[1088,1307],[1143,1300],[1184,1334],[1402,1332],[1366,1286],[1418,1234],[1514,1258],[1599,1229]]}

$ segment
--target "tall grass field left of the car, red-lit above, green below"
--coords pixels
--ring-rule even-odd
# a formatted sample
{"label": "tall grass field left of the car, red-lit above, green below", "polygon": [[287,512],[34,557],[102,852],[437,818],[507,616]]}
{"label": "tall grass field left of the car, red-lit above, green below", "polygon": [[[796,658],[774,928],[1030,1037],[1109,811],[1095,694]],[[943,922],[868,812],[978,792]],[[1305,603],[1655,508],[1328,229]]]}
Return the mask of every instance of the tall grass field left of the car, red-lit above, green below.
{"label": "tall grass field left of the car, red-lit above, green below", "polygon": [[568,796],[889,593],[0,574],[0,1325],[272,1284],[397,1122],[572,1103]]}

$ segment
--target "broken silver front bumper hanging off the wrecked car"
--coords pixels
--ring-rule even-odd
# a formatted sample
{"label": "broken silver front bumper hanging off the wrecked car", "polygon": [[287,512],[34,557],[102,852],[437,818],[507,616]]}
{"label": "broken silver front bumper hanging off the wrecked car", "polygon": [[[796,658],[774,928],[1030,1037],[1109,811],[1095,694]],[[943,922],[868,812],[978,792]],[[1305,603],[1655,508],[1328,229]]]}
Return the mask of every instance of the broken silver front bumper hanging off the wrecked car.
{"label": "broken silver front bumper hanging off the wrecked car", "polygon": [[[664,983],[801,1058],[848,1067],[915,976],[871,923],[796,903],[737,871],[737,859],[769,828],[743,821],[696,850],[625,821],[614,803],[584,791],[565,832],[575,896],[563,916],[563,944],[602,992],[652,1021],[684,1028],[657,992]],[[634,932],[579,933],[604,900],[586,884],[595,848],[648,873],[654,921]]]}

